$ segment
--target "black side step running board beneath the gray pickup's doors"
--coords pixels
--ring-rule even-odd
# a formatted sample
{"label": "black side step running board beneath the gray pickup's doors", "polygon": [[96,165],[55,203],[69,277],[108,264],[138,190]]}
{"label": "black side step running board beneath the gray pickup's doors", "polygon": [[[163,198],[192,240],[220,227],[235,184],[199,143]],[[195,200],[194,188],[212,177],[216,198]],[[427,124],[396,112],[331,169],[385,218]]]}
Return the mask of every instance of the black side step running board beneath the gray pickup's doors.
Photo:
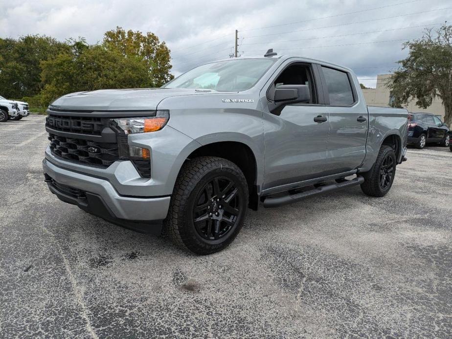
{"label": "black side step running board beneath the gray pickup's doors", "polygon": [[363,182],[364,182],[364,178],[362,176],[357,176],[356,178],[351,179],[351,180],[345,180],[340,183],[321,186],[321,187],[318,187],[318,188],[316,188],[314,190],[310,190],[310,191],[304,191],[304,192],[294,193],[294,194],[288,193],[288,195],[283,195],[283,196],[278,196],[278,197],[268,197],[268,198],[265,198],[265,200],[264,200],[264,207],[269,208],[269,207],[277,207],[277,206],[289,204],[289,203],[299,201],[299,200],[302,200],[302,199],[310,197],[310,196],[323,194],[323,193],[327,193],[327,192],[339,191],[346,187],[361,185]]}

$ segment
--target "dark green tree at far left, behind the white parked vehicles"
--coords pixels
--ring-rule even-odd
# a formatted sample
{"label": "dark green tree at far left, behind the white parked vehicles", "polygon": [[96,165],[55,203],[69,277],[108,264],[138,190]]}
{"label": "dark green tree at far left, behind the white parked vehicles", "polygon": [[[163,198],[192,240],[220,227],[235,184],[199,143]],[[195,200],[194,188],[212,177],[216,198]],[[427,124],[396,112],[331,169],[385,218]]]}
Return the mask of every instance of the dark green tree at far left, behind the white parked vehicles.
{"label": "dark green tree at far left, behind the white parked vehicles", "polygon": [[52,59],[67,49],[67,44],[46,36],[0,39],[0,94],[22,98],[39,93],[43,88],[41,61]]}

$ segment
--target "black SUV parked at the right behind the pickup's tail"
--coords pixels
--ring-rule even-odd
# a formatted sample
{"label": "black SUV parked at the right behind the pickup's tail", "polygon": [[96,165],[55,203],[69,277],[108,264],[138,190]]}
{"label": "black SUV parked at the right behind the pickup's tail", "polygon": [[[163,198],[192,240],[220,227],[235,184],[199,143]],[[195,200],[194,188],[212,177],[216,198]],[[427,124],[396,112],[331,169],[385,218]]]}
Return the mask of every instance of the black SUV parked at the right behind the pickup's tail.
{"label": "black SUV parked at the right behind the pickup's tail", "polygon": [[451,130],[437,116],[430,113],[410,113],[408,124],[408,144],[422,149],[428,143],[448,147]]}

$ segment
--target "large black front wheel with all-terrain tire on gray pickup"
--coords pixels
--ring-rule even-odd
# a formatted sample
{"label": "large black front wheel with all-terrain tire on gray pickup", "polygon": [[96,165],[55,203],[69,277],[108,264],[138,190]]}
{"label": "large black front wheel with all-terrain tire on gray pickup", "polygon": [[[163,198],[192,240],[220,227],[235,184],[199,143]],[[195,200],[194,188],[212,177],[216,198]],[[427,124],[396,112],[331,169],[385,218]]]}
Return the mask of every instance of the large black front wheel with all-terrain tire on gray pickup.
{"label": "large black front wheel with all-terrain tire on gray pickup", "polygon": [[[197,213],[195,212],[195,209],[200,206],[197,205],[200,201],[199,197],[205,195],[209,205],[208,212],[211,211],[215,214],[215,212],[218,211],[218,207],[221,206],[220,204],[223,201],[222,197],[225,198],[226,196],[226,194],[223,195],[226,188],[223,188],[224,191],[222,191],[222,196],[220,196],[220,194],[214,194],[214,184],[210,186],[210,183],[218,183],[221,180],[226,180],[226,182],[229,180],[233,183],[234,190],[235,188],[237,189],[235,193],[236,196],[234,195],[234,198],[232,199],[236,204],[237,211],[240,212],[237,213],[234,226],[222,226],[224,230],[228,227],[229,229],[228,231],[225,231],[221,238],[208,239],[208,236],[202,234],[201,230],[199,230],[199,224],[197,224],[198,228],[195,226],[196,218],[194,216],[195,213]],[[208,188],[211,193],[209,193],[206,188]],[[230,194],[227,195],[228,197],[230,196]],[[217,196],[220,199],[218,205],[216,205]],[[210,200],[210,198],[213,200]],[[214,200],[215,202],[213,202]],[[212,201],[212,203],[210,203],[210,201]],[[212,204],[212,206],[210,206],[210,204]],[[225,208],[225,206],[223,206],[223,208]],[[187,248],[196,254],[212,254],[223,250],[234,240],[242,228],[247,208],[247,180],[245,179],[243,172],[234,163],[219,157],[194,158],[185,162],[176,180],[171,196],[168,216],[164,221],[165,232],[177,246]],[[221,211],[221,217],[223,217],[223,215],[226,214],[223,214],[223,211]],[[212,221],[216,222],[216,220]],[[220,221],[219,225],[220,224],[224,225],[224,222]],[[210,228],[207,229],[210,230]],[[207,233],[208,231],[205,232]]]}

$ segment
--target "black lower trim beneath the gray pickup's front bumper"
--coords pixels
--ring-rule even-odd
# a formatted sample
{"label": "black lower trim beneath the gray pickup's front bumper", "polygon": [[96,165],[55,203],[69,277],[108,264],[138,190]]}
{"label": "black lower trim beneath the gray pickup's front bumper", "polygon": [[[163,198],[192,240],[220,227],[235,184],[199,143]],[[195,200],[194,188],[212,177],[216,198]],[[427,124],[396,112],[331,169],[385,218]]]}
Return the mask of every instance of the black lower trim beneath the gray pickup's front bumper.
{"label": "black lower trim beneath the gray pickup's front bumper", "polygon": [[58,199],[68,204],[76,205],[85,212],[98,216],[112,224],[119,225],[139,233],[160,234],[162,230],[162,220],[126,220],[117,218],[105,204],[101,196],[90,192],[80,191],[75,195],[74,191],[65,189],[63,185],[45,175],[45,182],[49,190]]}

